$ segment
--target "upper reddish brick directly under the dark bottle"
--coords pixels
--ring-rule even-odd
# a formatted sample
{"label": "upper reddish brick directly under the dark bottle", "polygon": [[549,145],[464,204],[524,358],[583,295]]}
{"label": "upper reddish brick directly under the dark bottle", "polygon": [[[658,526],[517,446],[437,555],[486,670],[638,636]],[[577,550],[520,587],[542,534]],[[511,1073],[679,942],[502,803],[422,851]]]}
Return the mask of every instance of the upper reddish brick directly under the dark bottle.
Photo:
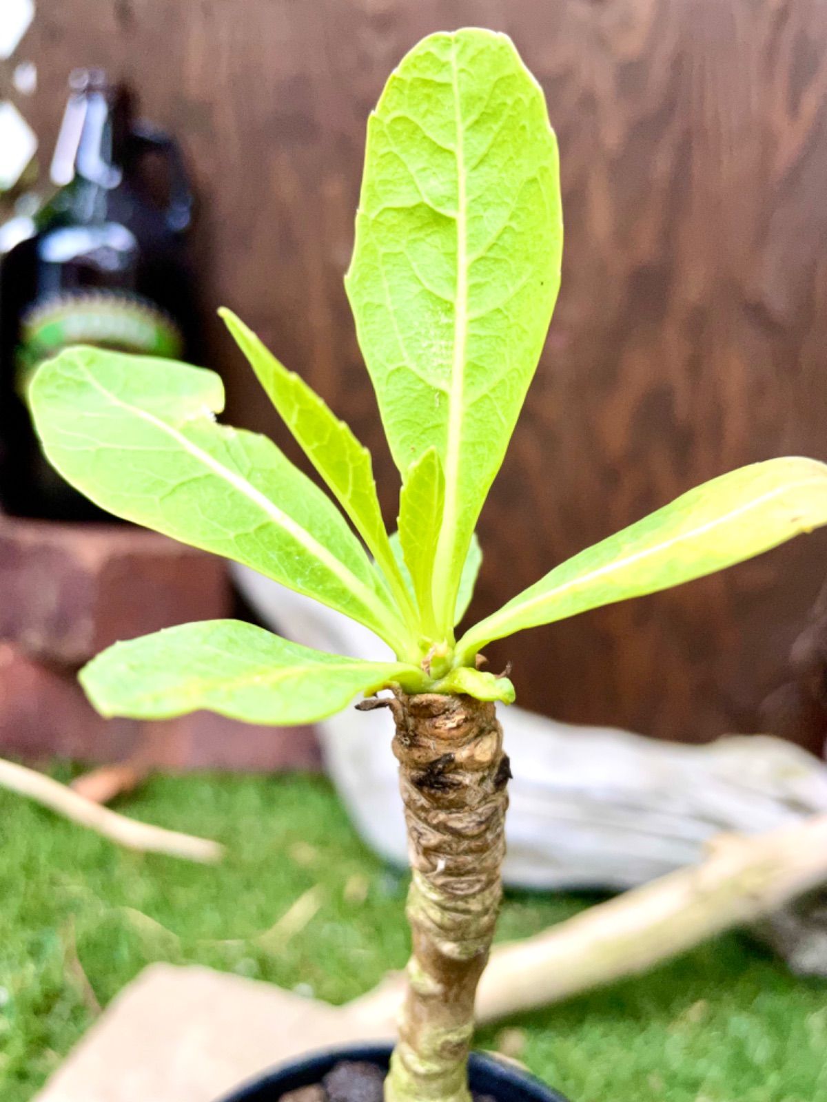
{"label": "upper reddish brick directly under the dark bottle", "polygon": [[0,518],[0,640],[78,666],[118,639],[226,616],[224,560],[127,525]]}

